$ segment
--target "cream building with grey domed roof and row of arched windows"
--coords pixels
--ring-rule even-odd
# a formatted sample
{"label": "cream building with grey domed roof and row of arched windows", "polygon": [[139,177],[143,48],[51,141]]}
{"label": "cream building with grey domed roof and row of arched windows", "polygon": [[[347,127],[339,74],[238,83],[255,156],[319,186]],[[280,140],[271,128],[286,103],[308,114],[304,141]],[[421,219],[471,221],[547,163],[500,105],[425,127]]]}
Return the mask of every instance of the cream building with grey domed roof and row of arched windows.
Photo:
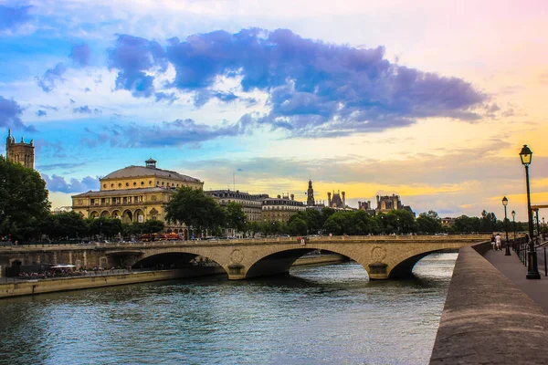
{"label": "cream building with grey domed roof and row of arched windows", "polygon": [[128,166],[100,179],[100,191],[72,196],[72,210],[84,218],[115,217],[123,223],[162,221],[166,230],[184,234],[186,228],[165,221],[165,206],[177,188],[203,189],[204,183],[179,172],[158,169],[152,158],[144,166]]}

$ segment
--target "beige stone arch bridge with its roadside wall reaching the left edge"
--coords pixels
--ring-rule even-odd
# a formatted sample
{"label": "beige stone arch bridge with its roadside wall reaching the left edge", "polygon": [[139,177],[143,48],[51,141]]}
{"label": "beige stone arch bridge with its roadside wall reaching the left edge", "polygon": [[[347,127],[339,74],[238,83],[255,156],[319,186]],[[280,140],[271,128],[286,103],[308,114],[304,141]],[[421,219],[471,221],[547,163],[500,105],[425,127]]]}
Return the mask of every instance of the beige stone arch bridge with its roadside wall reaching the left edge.
{"label": "beige stone arch bridge with its roadside wall reaching the left edge", "polygon": [[430,253],[489,240],[490,235],[400,235],[0,246],[0,266],[3,272],[14,263],[179,268],[202,256],[221,266],[229,279],[239,280],[289,273],[300,256],[321,250],[349,257],[363,266],[371,279],[388,279],[411,275],[416,262]]}

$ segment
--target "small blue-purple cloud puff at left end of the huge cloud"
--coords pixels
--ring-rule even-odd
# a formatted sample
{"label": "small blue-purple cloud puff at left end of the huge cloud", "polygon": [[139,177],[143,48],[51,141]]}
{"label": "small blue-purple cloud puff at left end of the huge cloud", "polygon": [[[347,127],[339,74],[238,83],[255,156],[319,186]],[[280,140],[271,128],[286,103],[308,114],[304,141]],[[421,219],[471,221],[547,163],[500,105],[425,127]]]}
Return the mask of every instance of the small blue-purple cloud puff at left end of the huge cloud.
{"label": "small blue-purple cloud puff at left end of the huge cloud", "polygon": [[165,50],[159,43],[137,36],[121,35],[108,49],[109,67],[119,69],[116,89],[132,91],[136,98],[154,95],[154,77],[147,73],[167,68]]}

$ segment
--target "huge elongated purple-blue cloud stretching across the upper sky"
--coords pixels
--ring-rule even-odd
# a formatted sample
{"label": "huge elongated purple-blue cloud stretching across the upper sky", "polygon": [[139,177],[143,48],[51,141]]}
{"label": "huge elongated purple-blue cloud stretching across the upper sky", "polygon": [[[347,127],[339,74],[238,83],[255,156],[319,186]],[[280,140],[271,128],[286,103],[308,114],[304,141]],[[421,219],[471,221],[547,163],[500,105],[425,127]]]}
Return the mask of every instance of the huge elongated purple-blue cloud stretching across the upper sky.
{"label": "huge elongated purple-blue cloud stretching across the upper sky", "polygon": [[153,41],[119,36],[109,55],[111,68],[120,70],[116,89],[135,97],[154,95],[154,75],[168,62],[175,77],[166,87],[194,92],[196,107],[212,98],[237,99],[215,89],[220,78],[237,80],[243,92],[267,92],[269,111],[248,118],[294,136],[380,131],[429,117],[474,121],[488,99],[460,78],[391,63],[384,47],[326,44],[287,29],[175,37],[165,50]]}

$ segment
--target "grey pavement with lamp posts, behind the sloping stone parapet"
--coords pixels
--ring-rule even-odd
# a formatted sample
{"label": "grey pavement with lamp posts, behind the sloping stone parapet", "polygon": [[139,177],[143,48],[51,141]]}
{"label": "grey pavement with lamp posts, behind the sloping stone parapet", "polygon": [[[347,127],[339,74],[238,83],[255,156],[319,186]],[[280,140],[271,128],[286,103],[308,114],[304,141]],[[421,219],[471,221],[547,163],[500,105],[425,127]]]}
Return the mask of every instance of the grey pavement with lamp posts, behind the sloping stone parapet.
{"label": "grey pavement with lamp posts, behind the sloping stone parapet", "polygon": [[544,272],[544,248],[537,249],[540,280],[527,279],[527,267],[522,264],[520,257],[511,251],[511,255],[504,255],[504,249],[493,251],[490,249],[483,257],[495,266],[504,276],[508,277],[516,287],[537,303],[548,313],[548,276]]}

